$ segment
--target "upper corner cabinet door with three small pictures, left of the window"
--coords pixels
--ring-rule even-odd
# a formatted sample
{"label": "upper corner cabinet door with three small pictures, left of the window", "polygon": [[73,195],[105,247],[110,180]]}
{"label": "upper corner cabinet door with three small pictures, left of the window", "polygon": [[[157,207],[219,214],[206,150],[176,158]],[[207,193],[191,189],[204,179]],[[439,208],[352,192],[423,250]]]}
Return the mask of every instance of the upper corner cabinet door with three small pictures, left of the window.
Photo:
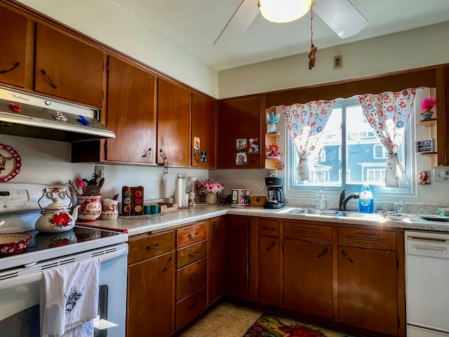
{"label": "upper corner cabinet door with three small pictures, left of the window", "polygon": [[[261,121],[262,98],[259,96],[220,102],[218,111],[218,149],[220,149],[218,167],[220,169],[264,167],[265,152]],[[248,152],[251,138],[258,140],[257,153]],[[237,140],[246,140],[246,148],[241,149],[241,146],[237,145]]]}

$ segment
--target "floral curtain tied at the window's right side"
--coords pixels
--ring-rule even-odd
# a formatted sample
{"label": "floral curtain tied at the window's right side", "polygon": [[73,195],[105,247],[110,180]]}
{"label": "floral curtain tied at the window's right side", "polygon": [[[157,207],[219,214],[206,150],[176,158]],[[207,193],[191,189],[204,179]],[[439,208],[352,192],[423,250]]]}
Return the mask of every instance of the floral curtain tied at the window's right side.
{"label": "floral curtain tied at the window's right side", "polygon": [[415,89],[408,88],[396,93],[359,95],[358,99],[377,139],[388,152],[385,186],[409,187],[410,182],[399,162],[397,152],[406,133],[407,122],[415,100]]}

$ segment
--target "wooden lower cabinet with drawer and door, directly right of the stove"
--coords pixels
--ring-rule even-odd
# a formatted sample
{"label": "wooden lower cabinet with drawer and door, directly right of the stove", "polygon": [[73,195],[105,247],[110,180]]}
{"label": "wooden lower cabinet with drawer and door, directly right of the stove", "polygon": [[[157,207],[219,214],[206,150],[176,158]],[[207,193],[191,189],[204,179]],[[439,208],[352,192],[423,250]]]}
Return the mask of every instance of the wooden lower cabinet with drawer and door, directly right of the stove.
{"label": "wooden lower cabinet with drawer and door, directly right of the stove", "polygon": [[174,232],[130,239],[129,246],[126,336],[170,336],[175,309]]}

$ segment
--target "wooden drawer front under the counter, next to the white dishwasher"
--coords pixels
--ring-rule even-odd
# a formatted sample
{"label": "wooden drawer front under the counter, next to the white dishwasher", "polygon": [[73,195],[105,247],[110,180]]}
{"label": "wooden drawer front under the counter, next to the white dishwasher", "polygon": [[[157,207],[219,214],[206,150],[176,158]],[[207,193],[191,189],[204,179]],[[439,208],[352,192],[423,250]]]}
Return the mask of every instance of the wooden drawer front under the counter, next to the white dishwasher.
{"label": "wooden drawer front under the counter, next to the white dishwasher", "polygon": [[340,227],[338,228],[338,244],[396,251],[396,232]]}

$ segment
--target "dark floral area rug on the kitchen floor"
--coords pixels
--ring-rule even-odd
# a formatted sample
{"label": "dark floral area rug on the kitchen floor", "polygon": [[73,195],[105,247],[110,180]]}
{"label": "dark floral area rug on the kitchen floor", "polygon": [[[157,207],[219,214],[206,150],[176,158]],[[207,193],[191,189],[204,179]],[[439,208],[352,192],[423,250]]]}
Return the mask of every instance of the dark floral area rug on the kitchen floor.
{"label": "dark floral area rug on the kitchen floor", "polygon": [[263,314],[243,337],[355,337],[301,323],[284,317]]}

